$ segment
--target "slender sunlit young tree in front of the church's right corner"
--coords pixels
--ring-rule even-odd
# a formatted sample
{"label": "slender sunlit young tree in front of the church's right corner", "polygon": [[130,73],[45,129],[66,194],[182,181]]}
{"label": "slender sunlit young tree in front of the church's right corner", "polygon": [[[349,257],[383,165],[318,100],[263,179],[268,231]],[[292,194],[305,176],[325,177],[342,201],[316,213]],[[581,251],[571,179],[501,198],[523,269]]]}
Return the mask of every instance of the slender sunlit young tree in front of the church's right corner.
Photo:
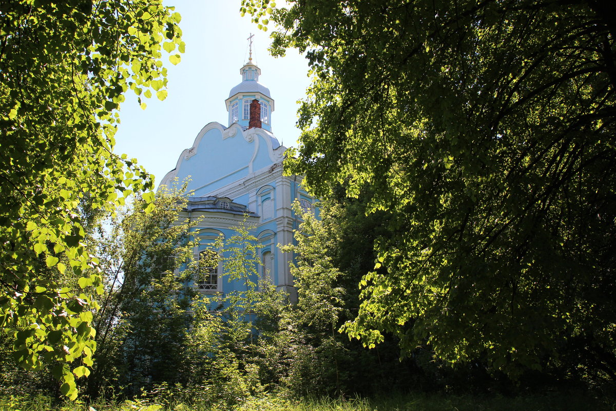
{"label": "slender sunlit young tree in front of the church's right corner", "polygon": [[303,213],[298,201],[293,210],[302,222],[294,244],[282,250],[296,256],[291,274],[298,302],[285,313],[275,336],[276,373],[280,385],[291,393],[340,395],[339,360],[348,353],[338,335],[346,290],[337,287],[341,272],[331,258],[331,249],[339,242],[338,227],[324,227],[310,211]]}

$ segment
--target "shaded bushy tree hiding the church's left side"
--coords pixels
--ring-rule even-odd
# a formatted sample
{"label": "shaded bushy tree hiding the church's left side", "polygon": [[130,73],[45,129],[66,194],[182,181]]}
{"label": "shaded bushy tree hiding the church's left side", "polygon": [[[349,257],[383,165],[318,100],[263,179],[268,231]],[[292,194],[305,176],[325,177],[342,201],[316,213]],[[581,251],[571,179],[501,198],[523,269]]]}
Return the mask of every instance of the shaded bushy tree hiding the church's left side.
{"label": "shaded bushy tree hiding the church's left side", "polygon": [[178,365],[193,295],[187,284],[195,265],[189,233],[198,223],[179,217],[185,188],[161,187],[152,212],[144,213],[138,200],[99,226],[93,252],[104,291],[92,322],[97,351],[87,381],[91,397],[121,387],[139,393],[182,377]]}

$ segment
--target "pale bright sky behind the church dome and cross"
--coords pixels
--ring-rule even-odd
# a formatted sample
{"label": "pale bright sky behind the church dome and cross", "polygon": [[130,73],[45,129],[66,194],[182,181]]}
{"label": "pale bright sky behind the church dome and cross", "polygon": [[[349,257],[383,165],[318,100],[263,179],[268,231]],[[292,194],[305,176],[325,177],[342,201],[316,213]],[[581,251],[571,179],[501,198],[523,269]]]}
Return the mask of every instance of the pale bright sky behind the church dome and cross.
{"label": "pale bright sky behind the church dome and cross", "polygon": [[182,15],[186,51],[176,66],[164,57],[169,92],[165,100],[146,99],[147,108],[142,110],[137,97],[126,93],[115,153],[137,158],[154,174],[158,187],[175,168],[182,150],[192,147],[201,128],[211,121],[229,126],[225,99],[241,82],[250,33],[254,34],[253,62],[261,68],[259,83],[270,89],[274,99],[272,132],[286,147],[296,145],[297,101],[309,85],[307,60],[295,50],[288,50],[285,57],[270,56],[272,28],[265,33],[248,16],[241,17],[240,0],[165,0],[164,4]]}

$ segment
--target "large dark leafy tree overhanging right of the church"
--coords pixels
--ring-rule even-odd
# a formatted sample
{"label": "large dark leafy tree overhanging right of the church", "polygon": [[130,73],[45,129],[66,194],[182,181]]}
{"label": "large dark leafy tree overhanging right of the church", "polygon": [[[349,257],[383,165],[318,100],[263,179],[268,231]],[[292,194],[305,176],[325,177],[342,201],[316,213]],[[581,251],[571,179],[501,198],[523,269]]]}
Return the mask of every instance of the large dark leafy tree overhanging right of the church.
{"label": "large dark leafy tree overhanging right of the church", "polygon": [[[267,1],[245,1],[262,23]],[[609,2],[291,1],[274,50],[312,86],[288,173],[391,214],[344,329],[517,376],[616,376],[616,24]]]}

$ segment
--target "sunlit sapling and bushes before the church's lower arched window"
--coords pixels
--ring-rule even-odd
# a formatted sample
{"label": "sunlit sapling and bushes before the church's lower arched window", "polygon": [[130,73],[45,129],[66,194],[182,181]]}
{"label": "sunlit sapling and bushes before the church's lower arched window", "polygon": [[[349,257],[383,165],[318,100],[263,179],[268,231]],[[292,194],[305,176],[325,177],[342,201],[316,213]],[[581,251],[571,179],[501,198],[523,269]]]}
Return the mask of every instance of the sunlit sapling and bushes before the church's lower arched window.
{"label": "sunlit sapling and bushes before the church's lower arched window", "polygon": [[197,391],[193,398],[213,409],[230,409],[270,382],[264,378],[262,352],[288,304],[275,287],[258,280],[261,262],[253,227],[245,219],[234,230],[237,234],[218,238],[211,250],[222,261],[223,275],[240,287],[195,298],[184,351],[186,388]]}

